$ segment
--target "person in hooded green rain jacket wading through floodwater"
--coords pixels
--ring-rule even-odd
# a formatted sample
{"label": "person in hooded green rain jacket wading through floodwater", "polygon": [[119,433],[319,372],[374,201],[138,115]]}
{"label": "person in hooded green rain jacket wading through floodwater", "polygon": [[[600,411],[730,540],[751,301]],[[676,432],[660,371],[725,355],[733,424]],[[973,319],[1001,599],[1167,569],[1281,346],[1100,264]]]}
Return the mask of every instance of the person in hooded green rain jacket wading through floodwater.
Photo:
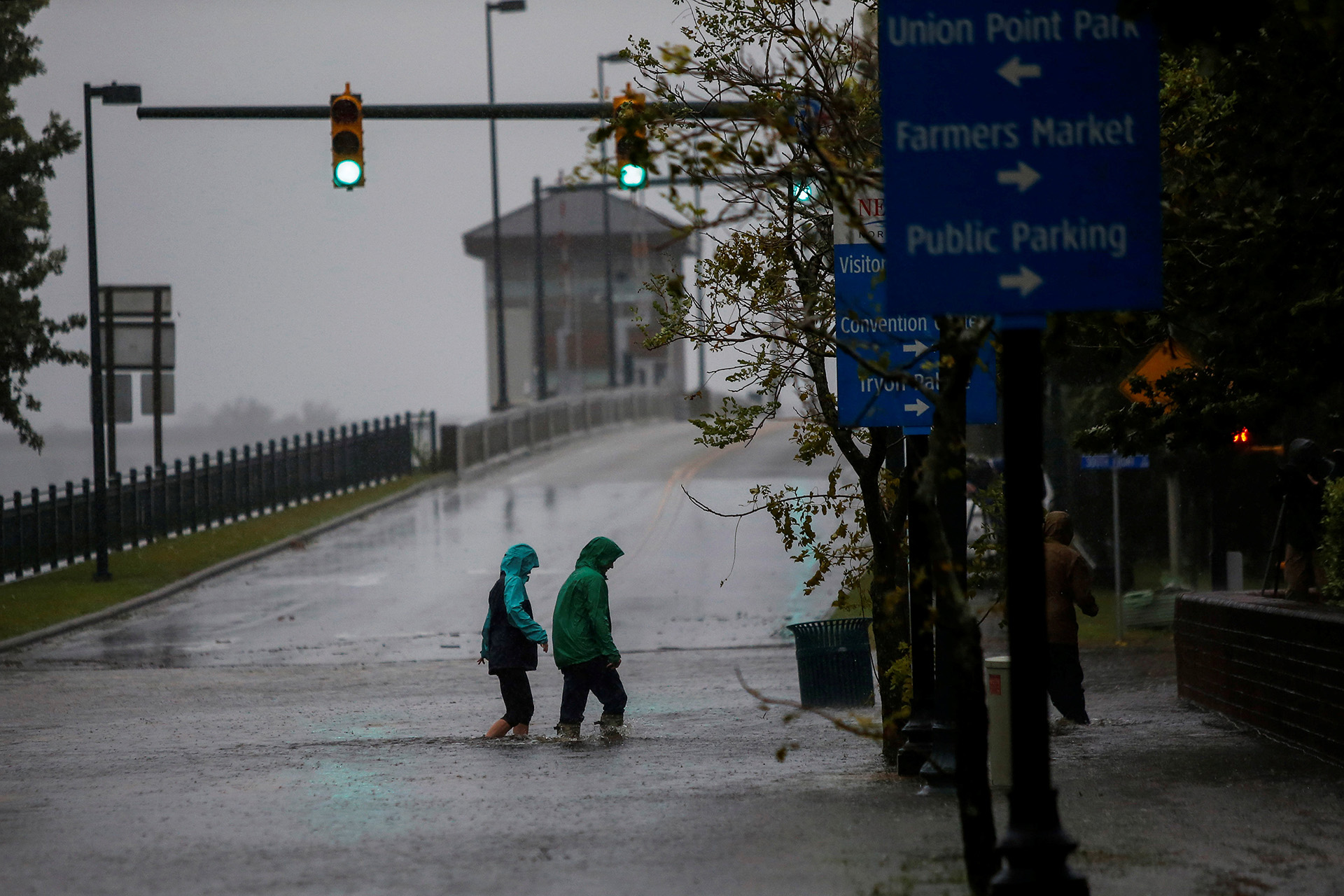
{"label": "person in hooded green rain jacket wading through floodwater", "polygon": [[612,539],[589,541],[555,599],[555,665],[564,676],[560,724],[555,728],[560,736],[578,736],[589,693],[602,701],[598,724],[603,731],[614,731],[625,721],[625,685],[616,672],[621,652],[612,641],[606,592],[606,571],[622,553]]}

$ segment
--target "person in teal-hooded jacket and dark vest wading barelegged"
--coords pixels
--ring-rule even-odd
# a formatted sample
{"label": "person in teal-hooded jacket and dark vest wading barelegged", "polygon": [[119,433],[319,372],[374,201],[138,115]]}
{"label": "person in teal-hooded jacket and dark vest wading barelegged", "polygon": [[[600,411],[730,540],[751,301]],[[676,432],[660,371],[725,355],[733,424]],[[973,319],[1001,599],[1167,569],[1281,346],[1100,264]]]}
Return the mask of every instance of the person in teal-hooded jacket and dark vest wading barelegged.
{"label": "person in teal-hooded jacket and dark vest wading barelegged", "polygon": [[548,647],[546,629],[532,618],[532,602],[527,599],[527,576],[539,566],[536,551],[515,544],[504,552],[500,578],[491,588],[481,629],[481,658],[476,662],[489,662],[489,673],[500,680],[504,717],[491,725],[487,737],[503,737],[511,728],[515,735],[526,736],[532,721],[532,685],[527,673],[536,669],[536,645],[542,650]]}

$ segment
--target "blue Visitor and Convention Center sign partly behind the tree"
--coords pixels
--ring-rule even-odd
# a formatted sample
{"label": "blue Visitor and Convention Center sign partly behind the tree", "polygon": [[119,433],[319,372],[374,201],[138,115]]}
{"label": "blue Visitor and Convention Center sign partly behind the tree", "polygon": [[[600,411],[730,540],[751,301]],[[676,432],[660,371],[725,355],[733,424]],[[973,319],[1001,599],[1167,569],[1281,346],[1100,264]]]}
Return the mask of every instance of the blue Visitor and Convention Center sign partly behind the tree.
{"label": "blue Visitor and Convention Center sign partly behind the tree", "polygon": [[[835,228],[836,283],[836,398],[843,426],[902,426],[926,429],[933,423],[933,404],[917,388],[883,380],[860,369],[864,359],[879,369],[905,369],[917,382],[938,390],[938,326],[930,314],[906,314],[891,301],[886,263],[879,244],[886,242],[883,197],[855,197],[860,227],[840,220]],[[848,349],[848,351],[845,351]],[[852,353],[851,353],[852,352]],[[856,357],[857,356],[857,357]],[[966,387],[966,422],[996,423],[999,394],[995,387],[993,347],[985,345]]]}

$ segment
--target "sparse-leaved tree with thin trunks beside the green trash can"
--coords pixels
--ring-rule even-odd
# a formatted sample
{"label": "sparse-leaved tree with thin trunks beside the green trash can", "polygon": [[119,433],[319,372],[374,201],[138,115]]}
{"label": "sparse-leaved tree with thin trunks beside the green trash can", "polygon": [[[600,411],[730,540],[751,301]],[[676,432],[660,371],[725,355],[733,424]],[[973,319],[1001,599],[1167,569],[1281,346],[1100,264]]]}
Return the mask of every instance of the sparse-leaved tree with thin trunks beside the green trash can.
{"label": "sparse-leaved tree with thin trunks beside the green trash can", "polygon": [[[771,0],[673,3],[687,8],[684,42],[638,40],[626,51],[650,102],[642,110],[625,103],[594,134],[598,141],[616,128],[646,129],[657,146],[653,164],[672,179],[668,197],[692,230],[715,242],[696,271],[703,306],[680,277],[648,285],[657,301],[646,344],[685,341],[731,359],[723,372],[732,395],[695,420],[703,445],[750,442],[786,406],[801,408],[793,423],[797,458],[827,466],[825,488],[759,485],[741,514],[774,519],[793,557],[814,564],[809,590],[837,582],[839,606],[871,611],[882,713],[872,733],[892,760],[907,715],[906,536],[911,528],[927,533],[931,556],[911,575],[931,580],[938,623],[956,634],[954,656],[945,661],[962,688],[957,785],[968,879],[984,892],[997,856],[980,629],[958,580],[965,557],[953,556],[937,493],[962,465],[965,386],[989,322],[939,320],[941,392],[921,376],[926,359],[906,363],[836,339],[832,232],[844,224],[863,232],[857,199],[880,189],[875,0],[848,11]],[[711,117],[708,102],[746,111]],[[711,214],[694,201],[691,187],[712,188],[724,201]],[[871,234],[867,239],[880,249]],[[919,469],[890,469],[899,447],[891,430],[844,424],[832,373],[840,352],[857,360],[863,376],[899,383],[934,406],[934,435]]]}

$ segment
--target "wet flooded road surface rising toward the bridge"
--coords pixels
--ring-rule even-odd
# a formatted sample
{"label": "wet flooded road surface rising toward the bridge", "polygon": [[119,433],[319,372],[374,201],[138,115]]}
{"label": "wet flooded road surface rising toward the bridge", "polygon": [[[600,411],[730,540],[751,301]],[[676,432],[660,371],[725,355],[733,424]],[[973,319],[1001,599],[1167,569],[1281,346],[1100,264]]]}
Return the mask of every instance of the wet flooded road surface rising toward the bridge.
{"label": "wet flooded road surface rising toward the bridge", "polygon": [[[715,455],[685,427],[622,430],[0,657],[0,892],[964,892],[952,798],[738,684],[796,696],[780,627],[825,599],[801,596],[769,520],[734,555],[734,523],[676,485],[739,504],[808,481],[788,458],[778,433]],[[544,657],[540,736],[480,739],[500,709],[472,662],[495,559],[538,548],[546,622],[595,532],[629,555],[624,739],[546,736]],[[1344,893],[1339,768],[1181,704],[1169,646],[1083,665],[1097,723],[1059,732],[1054,774],[1093,893]],[[1001,794],[996,811],[1001,830]]]}

